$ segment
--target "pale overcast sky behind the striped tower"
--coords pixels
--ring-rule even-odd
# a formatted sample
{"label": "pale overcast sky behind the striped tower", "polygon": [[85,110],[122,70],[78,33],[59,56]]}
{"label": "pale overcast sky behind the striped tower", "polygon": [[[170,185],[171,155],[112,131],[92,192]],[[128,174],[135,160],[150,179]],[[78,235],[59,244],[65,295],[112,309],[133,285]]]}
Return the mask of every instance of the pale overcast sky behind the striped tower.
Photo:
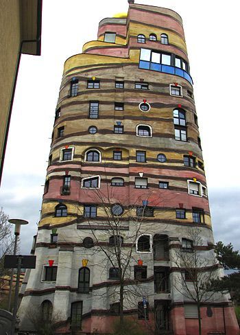
{"label": "pale overcast sky behind the striped tower", "polygon": [[[200,126],[215,240],[240,249],[238,1],[139,0],[182,16]],[[43,0],[42,55],[21,58],[0,189],[10,218],[29,220],[21,252],[36,234],[64,61],[97,39],[99,21],[127,0]]]}

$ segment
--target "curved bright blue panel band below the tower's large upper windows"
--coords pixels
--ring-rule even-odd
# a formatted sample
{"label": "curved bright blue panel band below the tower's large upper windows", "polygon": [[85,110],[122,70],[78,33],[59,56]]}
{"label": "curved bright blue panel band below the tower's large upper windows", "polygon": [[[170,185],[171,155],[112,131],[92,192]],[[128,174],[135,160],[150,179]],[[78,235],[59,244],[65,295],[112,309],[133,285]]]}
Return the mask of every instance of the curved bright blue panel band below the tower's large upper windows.
{"label": "curved bright blue panel band below the tower's large upper windows", "polygon": [[180,69],[179,67],[173,67],[171,65],[157,64],[154,62],[147,62],[146,60],[139,61],[139,69],[158,71],[163,73],[173,74],[174,76],[180,76],[186,79],[190,84],[193,85],[193,80],[187,71]]}

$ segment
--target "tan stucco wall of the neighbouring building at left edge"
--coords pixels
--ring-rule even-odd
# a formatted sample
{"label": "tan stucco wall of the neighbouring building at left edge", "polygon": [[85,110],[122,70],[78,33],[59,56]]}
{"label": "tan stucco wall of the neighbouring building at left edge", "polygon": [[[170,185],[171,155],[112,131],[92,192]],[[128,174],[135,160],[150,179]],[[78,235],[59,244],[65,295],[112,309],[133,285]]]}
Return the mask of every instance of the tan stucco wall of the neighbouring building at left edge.
{"label": "tan stucco wall of the neighbouring building at left edge", "polygon": [[0,163],[21,40],[19,0],[0,1]]}

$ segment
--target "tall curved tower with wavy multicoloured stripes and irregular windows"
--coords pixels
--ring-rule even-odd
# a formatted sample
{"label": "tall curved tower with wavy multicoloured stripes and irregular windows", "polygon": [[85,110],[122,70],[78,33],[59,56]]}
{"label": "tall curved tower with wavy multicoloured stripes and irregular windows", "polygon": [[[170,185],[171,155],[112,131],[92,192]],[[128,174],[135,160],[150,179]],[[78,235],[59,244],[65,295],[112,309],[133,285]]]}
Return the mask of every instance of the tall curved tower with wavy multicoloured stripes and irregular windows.
{"label": "tall curved tower with wavy multicoloured stripes and irregular windows", "polygon": [[[174,259],[191,253],[191,229],[201,231],[200,257],[213,257],[214,241],[182,19],[129,2],[128,15],[103,19],[97,41],[64,64],[22,330],[33,305],[59,333],[110,332],[117,249],[130,255],[123,314],[146,334],[197,334],[197,306],[176,281],[188,274]],[[202,334],[237,334],[228,295],[201,313]]]}

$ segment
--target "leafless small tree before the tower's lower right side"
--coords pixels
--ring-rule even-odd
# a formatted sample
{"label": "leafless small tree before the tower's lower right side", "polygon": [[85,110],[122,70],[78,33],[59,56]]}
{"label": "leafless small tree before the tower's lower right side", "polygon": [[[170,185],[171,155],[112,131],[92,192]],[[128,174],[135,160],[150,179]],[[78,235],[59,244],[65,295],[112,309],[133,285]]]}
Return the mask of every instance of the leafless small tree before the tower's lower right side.
{"label": "leafless small tree before the tower's lower right side", "polygon": [[[211,281],[218,276],[219,264],[214,250],[201,251],[203,241],[201,229],[189,227],[189,246],[176,249],[171,261],[180,275],[176,276],[174,287],[187,300],[197,305],[199,334],[202,334],[200,306],[210,301],[215,292],[209,291]],[[190,245],[191,244],[191,245]]]}

